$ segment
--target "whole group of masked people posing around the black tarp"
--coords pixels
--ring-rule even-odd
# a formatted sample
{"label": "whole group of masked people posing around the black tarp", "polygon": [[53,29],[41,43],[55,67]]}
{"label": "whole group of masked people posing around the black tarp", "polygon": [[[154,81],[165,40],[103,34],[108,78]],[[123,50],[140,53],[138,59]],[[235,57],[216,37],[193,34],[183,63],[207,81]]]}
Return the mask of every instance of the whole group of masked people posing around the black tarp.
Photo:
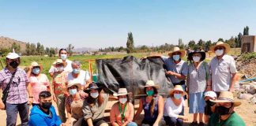
{"label": "whole group of masked people posing around the black tarp", "polygon": [[[237,71],[233,57],[228,55],[229,49],[226,43],[216,43],[211,47],[216,57],[209,64],[205,62],[202,50],[187,54],[189,62],[182,60],[186,51],[179,50],[179,47],[175,47],[168,57],[157,56],[164,61],[166,75],[174,88],[167,92],[167,98],[163,98],[158,95],[160,87],[148,80],[141,88],[146,96],[141,97],[136,113],[126,88],[119,88],[114,94],[119,102],[111,108],[111,125],[136,126],[135,121],[142,110],[145,114],[141,125],[183,125],[183,121],[188,120],[184,114],[186,98],[189,113],[193,113],[191,126],[201,126],[203,122],[209,125],[245,125],[234,112],[234,107],[241,102],[235,101],[232,95]],[[21,64],[18,54],[6,56],[6,68],[0,71],[0,88],[7,93],[0,99],[0,109],[6,109],[8,126],[16,124],[17,113],[21,125],[108,125],[104,120],[104,110],[109,94],[98,83],[92,82],[88,71],[81,70],[80,61],[70,61],[67,55],[65,49],[59,50],[60,58],[49,70],[52,88],[42,73],[42,65],[33,61],[24,72],[18,68]],[[57,103],[59,117],[52,101]],[[30,117],[28,105],[33,106]]]}

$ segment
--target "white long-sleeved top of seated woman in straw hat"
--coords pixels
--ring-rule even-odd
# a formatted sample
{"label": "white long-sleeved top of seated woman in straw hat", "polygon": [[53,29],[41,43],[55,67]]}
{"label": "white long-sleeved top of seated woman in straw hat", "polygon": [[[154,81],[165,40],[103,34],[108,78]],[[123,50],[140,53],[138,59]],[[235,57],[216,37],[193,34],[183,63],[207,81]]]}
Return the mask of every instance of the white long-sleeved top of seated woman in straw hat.
{"label": "white long-sleeved top of seated woman in straw hat", "polygon": [[177,119],[179,113],[183,111],[184,106],[185,102],[183,98],[179,106],[176,106],[175,103],[171,100],[171,98],[168,98],[164,103],[164,117],[175,117]]}

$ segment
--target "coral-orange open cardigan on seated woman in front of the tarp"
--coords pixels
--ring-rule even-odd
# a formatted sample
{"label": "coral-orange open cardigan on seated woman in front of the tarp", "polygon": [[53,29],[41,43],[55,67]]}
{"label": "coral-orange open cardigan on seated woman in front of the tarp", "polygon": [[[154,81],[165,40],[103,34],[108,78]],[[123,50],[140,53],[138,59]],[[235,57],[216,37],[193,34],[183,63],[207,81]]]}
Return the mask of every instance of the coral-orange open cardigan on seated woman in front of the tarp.
{"label": "coral-orange open cardigan on seated woman in front of the tarp", "polygon": [[[132,122],[134,118],[134,105],[130,102],[126,105],[126,112],[125,112],[125,118],[123,120],[123,123],[126,121]],[[111,108],[111,113],[110,113],[110,120],[111,124],[114,124],[115,122],[118,123],[119,125],[122,125],[122,117],[121,113],[119,111],[119,102],[116,102],[112,108]]]}

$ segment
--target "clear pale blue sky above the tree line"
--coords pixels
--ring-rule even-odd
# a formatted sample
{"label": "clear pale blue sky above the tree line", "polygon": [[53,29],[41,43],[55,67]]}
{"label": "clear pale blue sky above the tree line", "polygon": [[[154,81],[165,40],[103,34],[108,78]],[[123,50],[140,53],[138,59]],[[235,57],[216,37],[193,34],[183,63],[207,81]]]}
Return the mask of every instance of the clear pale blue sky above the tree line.
{"label": "clear pale blue sky above the tree line", "polygon": [[230,39],[249,26],[255,0],[0,0],[0,36],[48,47],[104,48]]}

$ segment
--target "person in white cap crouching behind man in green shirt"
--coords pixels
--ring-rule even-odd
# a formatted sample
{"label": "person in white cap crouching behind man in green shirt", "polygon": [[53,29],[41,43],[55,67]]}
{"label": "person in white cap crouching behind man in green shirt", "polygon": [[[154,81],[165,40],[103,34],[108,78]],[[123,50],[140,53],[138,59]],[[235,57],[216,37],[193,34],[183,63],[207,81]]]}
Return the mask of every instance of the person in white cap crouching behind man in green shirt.
{"label": "person in white cap crouching behind man in green shirt", "polygon": [[205,92],[205,123],[208,123],[209,117],[211,117],[215,110],[215,102],[209,101],[210,99],[216,100],[216,93],[214,91]]}

